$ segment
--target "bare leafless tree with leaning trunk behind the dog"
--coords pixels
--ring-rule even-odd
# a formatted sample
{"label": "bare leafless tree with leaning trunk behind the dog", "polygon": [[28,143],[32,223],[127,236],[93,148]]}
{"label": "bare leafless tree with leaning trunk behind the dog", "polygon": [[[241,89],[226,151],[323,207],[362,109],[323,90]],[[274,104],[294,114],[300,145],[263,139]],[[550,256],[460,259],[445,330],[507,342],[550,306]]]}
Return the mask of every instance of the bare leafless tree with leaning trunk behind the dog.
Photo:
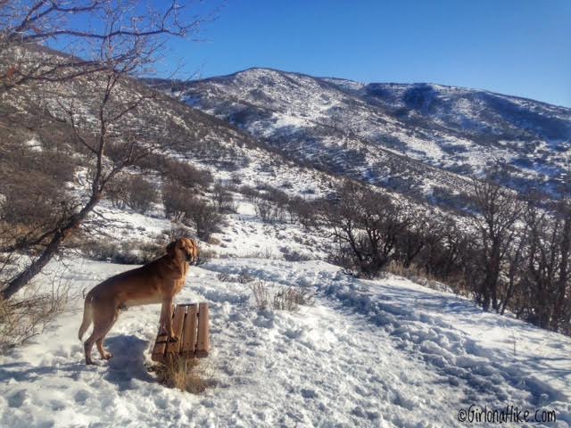
{"label": "bare leafless tree with leaning trunk behind the dog", "polygon": [[[137,85],[131,77],[145,73],[157,60],[164,45],[162,37],[184,36],[200,21],[182,25],[175,2],[162,14],[139,17],[137,6],[144,3],[0,2],[0,55],[12,54],[22,46],[54,37],[79,38],[89,46],[91,53],[89,59],[70,59],[57,53],[30,55],[26,49],[22,51],[24,56],[40,58],[39,65],[32,60],[7,70],[2,68],[6,62],[0,66],[4,87],[22,87],[32,80],[42,81],[42,89],[52,95],[46,97],[46,115],[66,124],[70,129],[70,142],[83,153],[88,166],[88,174],[83,177],[85,193],[62,201],[56,221],[33,240],[13,243],[3,249],[13,252],[33,247],[37,254],[6,282],[2,290],[4,299],[10,299],[28,284],[61,249],[62,243],[88,221],[113,177],[165,144],[167,119],[158,119],[159,123],[145,132],[130,126],[136,122],[137,113],[148,109],[158,95],[139,87],[136,95],[127,96],[126,87]],[[75,13],[88,13],[89,17],[99,20],[103,32],[78,31],[62,24],[66,16]],[[83,53],[87,53],[87,48]],[[57,100],[57,105],[50,104],[53,100]],[[111,161],[106,151],[116,145],[121,147],[122,154]]]}

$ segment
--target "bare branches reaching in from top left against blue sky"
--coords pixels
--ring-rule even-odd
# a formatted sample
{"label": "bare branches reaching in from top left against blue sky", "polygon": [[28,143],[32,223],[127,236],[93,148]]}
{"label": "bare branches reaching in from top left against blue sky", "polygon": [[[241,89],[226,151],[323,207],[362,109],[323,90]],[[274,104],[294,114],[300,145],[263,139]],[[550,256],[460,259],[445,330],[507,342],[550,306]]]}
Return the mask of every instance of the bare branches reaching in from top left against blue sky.
{"label": "bare branches reaching in from top left against blue sky", "polygon": [[[193,34],[207,19],[181,18],[187,2],[141,0],[0,1],[0,86],[62,81],[157,53],[166,37]],[[55,45],[66,55],[50,55]],[[106,62],[99,48],[107,50]],[[145,47],[143,47],[145,45]],[[33,54],[33,52],[40,54]]]}

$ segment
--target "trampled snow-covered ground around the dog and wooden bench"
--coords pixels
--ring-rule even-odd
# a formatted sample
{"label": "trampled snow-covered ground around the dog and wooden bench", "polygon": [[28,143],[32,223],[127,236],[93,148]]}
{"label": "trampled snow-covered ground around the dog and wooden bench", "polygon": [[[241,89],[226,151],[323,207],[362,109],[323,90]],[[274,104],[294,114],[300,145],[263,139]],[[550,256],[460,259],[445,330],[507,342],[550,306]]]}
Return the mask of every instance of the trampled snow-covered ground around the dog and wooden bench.
{"label": "trampled snow-covered ground around the dog and wooden bench", "polygon": [[[82,289],[125,268],[78,261],[68,276]],[[220,272],[311,287],[315,305],[258,311],[248,285]],[[318,261],[216,259],[192,268],[178,296],[197,300],[211,303],[216,387],[194,396],[154,382],[145,363],[158,306],[121,314],[106,342],[112,360],[84,366],[77,301],[0,358],[0,426],[463,426],[456,416],[469,404],[552,407],[558,426],[571,424],[571,341],[447,292],[357,280]]]}

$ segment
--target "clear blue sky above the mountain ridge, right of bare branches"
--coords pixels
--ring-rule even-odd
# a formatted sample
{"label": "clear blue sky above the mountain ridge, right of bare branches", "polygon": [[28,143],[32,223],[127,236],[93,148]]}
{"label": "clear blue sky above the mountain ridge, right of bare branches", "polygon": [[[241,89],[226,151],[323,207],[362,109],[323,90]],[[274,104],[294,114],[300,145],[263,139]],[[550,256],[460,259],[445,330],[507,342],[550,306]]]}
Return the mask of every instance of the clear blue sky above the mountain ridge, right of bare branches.
{"label": "clear blue sky above the mountain ridge, right of bare branches", "polygon": [[570,0],[228,0],[200,37],[173,42],[161,70],[178,60],[201,77],[270,67],[571,107]]}

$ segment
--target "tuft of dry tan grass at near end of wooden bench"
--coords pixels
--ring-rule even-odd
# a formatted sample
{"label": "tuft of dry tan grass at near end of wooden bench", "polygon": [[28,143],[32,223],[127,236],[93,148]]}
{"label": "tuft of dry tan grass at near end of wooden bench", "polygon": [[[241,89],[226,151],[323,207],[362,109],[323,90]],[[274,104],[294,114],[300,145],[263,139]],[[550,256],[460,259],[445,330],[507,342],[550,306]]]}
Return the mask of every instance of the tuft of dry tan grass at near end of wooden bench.
{"label": "tuft of dry tan grass at near end of wooden bench", "polygon": [[215,384],[212,367],[195,358],[174,356],[154,365],[152,371],[162,385],[192,394],[200,394]]}

